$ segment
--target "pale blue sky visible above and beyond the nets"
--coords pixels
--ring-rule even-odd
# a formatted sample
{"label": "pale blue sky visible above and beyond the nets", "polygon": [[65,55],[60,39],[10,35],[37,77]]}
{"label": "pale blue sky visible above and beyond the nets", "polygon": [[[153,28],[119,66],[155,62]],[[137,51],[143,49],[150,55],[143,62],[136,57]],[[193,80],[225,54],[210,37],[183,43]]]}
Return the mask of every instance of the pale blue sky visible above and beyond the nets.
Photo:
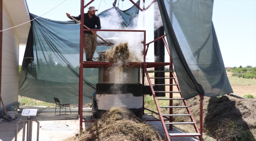
{"label": "pale blue sky visible above and beyond the nets", "polygon": [[[50,11],[64,0],[26,0],[30,13],[38,16]],[[85,0],[88,3],[90,0]],[[135,0],[134,0],[135,1]],[[98,9],[98,13],[112,7],[114,0],[95,0],[92,4]],[[152,0],[146,0],[146,7]],[[116,4],[118,6],[118,4]],[[129,0],[119,2],[119,8],[126,10],[132,6]],[[142,7],[142,6],[141,6]],[[152,11],[148,9],[147,13]],[[85,8],[85,11],[87,9]],[[65,13],[78,16],[80,14],[80,0],[66,0],[63,4],[43,15],[51,20],[67,21]],[[152,16],[146,13],[145,27],[152,29],[147,31],[146,43],[154,40]],[[139,19],[142,18],[140,14]],[[256,67],[256,0],[214,0],[213,24],[219,41],[221,54],[226,67],[243,67],[251,65]],[[142,20],[138,26],[142,27]],[[148,54],[153,54],[153,46]],[[24,46],[20,46],[20,62],[24,54]],[[167,53],[166,53],[167,54]],[[151,55],[153,56],[153,55]],[[165,60],[168,55],[165,55]],[[154,61],[154,57],[148,57],[147,61]]]}

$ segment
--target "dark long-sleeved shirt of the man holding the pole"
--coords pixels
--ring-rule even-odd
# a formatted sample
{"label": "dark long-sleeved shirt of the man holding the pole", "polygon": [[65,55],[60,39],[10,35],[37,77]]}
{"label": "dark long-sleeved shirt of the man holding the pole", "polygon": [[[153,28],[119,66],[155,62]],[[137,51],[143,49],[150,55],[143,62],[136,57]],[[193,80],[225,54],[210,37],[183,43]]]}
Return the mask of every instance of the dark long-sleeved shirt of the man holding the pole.
{"label": "dark long-sleeved shirt of the man holding the pole", "polygon": [[[93,15],[93,17],[89,18],[87,13],[83,13],[83,14],[84,14],[84,20],[83,20],[84,25],[89,27],[89,29],[101,29],[99,16]],[[79,16],[72,16],[72,17],[75,18],[76,20],[81,20],[81,14]],[[72,18],[70,19],[73,20]],[[86,27],[83,27],[83,28],[86,29]],[[93,34],[91,31],[83,31],[83,33]]]}

